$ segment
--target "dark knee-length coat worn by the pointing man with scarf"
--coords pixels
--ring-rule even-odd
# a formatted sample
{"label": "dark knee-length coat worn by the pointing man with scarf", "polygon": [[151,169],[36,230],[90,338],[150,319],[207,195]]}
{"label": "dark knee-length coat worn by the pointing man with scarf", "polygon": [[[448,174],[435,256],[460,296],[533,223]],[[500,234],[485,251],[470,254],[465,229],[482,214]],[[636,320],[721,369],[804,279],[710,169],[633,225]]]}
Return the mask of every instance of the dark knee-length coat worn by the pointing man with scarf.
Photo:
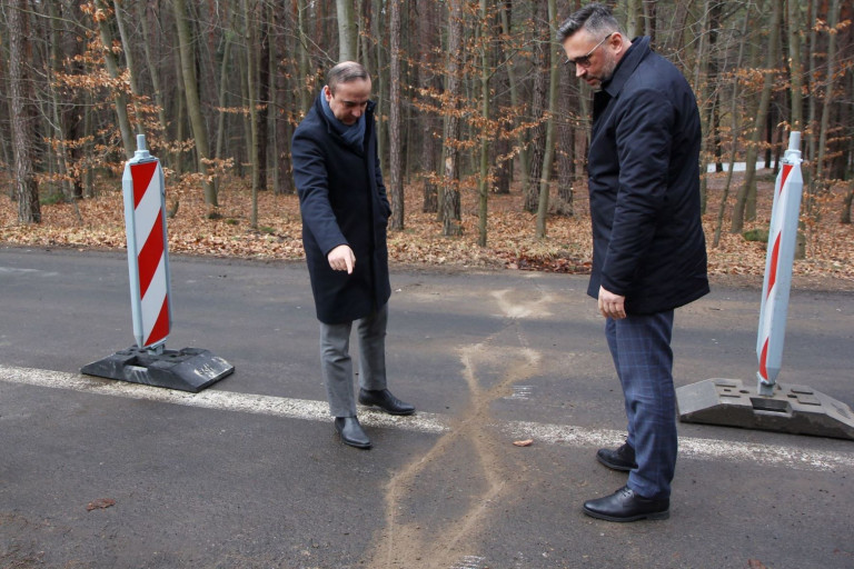
{"label": "dark knee-length coat worn by the pointing man with scarf", "polygon": [[[363,144],[350,146],[329,123],[320,97],[291,141],[294,181],[302,214],[302,244],[317,318],[345,323],[369,316],[391,296],[386,230],[391,208],[377,157],[374,102]],[[334,271],[327,254],[348,244],[352,274]]]}

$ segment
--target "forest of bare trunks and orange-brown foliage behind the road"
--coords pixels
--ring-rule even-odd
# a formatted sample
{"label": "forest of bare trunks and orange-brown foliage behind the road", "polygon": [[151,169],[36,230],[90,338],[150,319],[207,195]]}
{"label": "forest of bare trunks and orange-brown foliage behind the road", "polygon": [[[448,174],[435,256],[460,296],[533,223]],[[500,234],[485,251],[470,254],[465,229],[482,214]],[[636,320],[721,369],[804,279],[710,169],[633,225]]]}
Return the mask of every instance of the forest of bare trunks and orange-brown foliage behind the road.
{"label": "forest of bare trunks and orange-brown foliage behind the road", "polygon": [[[823,223],[851,224],[851,2],[605,3],[694,88],[709,247],[753,227],[762,169],[776,168],[793,130],[803,132],[800,257],[820,248]],[[295,192],[290,137],[326,70],[358,60],[374,78],[393,231],[417,213],[458,236],[463,199],[485,247],[490,204],[516,192],[519,219],[544,238],[556,219],[582,214],[586,197],[592,93],[555,39],[580,6],[0,0],[3,200],[20,226],[38,226],[53,203],[73,204],[82,222],[78,204],[120,187],[145,134],[169,188],[203,203],[201,218],[221,218],[222,192],[240,187],[257,229],[270,196]],[[745,171],[733,176],[734,163]]]}

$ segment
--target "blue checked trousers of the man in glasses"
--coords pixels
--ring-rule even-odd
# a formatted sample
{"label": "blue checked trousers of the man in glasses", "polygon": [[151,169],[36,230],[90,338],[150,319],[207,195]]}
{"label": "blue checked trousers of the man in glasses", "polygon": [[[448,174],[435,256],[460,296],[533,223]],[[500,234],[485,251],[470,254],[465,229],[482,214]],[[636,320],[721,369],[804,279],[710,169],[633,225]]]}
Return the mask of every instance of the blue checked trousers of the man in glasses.
{"label": "blue checked trousers of the man in glasses", "polygon": [[628,487],[645,498],[671,496],[676,468],[676,391],[673,386],[673,310],[608,318],[605,336],[614,358],[628,420],[626,442],[637,468]]}

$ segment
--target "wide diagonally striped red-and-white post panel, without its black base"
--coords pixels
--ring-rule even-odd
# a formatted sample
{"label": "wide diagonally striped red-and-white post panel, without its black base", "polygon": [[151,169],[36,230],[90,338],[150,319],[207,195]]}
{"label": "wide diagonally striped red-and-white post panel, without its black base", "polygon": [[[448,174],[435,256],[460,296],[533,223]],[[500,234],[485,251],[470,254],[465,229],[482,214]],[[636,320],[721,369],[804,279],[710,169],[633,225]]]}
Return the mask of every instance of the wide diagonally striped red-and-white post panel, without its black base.
{"label": "wide diagonally striped red-and-white post panel, without its black base", "polygon": [[140,349],[162,349],[171,329],[166,186],[160,161],[146,150],[146,138],[125,166],[125,227],[133,337]]}

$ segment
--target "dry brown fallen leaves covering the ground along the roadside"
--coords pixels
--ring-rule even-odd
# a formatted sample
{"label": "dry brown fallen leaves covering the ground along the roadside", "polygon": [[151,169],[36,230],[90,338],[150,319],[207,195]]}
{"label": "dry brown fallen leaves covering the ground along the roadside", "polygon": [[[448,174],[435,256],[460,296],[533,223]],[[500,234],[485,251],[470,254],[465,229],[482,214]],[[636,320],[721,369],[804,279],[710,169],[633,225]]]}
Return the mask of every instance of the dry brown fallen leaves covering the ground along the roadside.
{"label": "dry brown fallen leaves covering the ground along the roadside", "polygon": [[[761,276],[765,270],[765,243],[746,241],[741,234],[727,232],[728,218],[719,246],[712,248],[723,180],[722,174],[709,178],[708,213],[704,219],[709,272]],[[736,189],[734,187],[731,194]],[[772,189],[773,178],[766,174],[759,184],[758,219],[745,229],[767,227]],[[854,282],[854,226],[837,221],[845,190],[838,189],[838,196],[823,204],[826,213],[822,216],[821,224],[810,232],[807,258],[795,262],[795,274],[830,276]],[[590,221],[584,189],[576,192],[574,217],[549,217],[545,239],[535,237],[535,216],[522,211],[518,189],[508,196],[490,194],[485,248],[477,246],[477,200],[471,192],[463,197],[463,234],[454,238],[441,236],[441,224],[436,221],[435,213],[420,211],[419,184],[407,188],[406,199],[406,228],[389,232],[389,256],[394,262],[589,272]],[[296,196],[260,192],[255,228],[250,222],[251,192],[239,182],[224,184],[220,190],[220,219],[207,219],[208,208],[200,190],[167,189],[167,202],[171,204],[175,200],[179,201],[179,207],[177,214],[168,220],[170,252],[262,260],[304,258]],[[8,198],[0,199],[0,242],[78,249],[125,248],[121,181],[116,179],[113,187],[95,199],[42,206],[40,224],[18,223],[17,203]]]}

